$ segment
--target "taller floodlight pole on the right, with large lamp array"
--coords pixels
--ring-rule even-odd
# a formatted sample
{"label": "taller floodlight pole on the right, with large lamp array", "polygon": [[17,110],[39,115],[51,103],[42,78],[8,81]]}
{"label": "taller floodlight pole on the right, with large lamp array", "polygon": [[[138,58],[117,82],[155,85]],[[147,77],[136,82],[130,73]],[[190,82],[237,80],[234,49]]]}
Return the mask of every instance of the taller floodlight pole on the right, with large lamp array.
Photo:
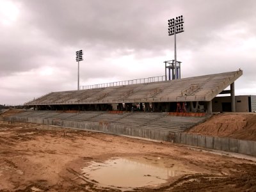
{"label": "taller floodlight pole on the right, with large lamp array", "polygon": [[180,15],[176,17],[176,19],[169,19],[168,20],[168,35],[174,35],[174,68],[175,68],[175,79],[179,79],[179,73],[177,70],[177,52],[176,52],[176,34],[184,32],[184,17]]}

